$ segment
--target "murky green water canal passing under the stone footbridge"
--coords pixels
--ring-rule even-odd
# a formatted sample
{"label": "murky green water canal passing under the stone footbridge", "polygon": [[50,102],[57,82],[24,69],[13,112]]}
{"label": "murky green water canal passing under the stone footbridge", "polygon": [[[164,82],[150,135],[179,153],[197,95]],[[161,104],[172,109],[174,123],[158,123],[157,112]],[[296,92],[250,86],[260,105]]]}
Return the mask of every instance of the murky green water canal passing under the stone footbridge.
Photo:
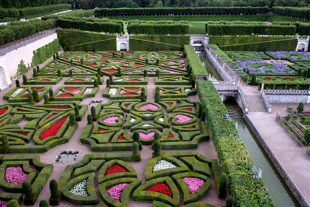
{"label": "murky green water canal passing under the stone footbridge", "polygon": [[[204,62],[204,66],[212,78],[223,80],[207,58],[201,58],[201,61]],[[224,104],[227,110],[241,109],[233,97],[226,97]],[[277,207],[300,207],[245,119],[243,117],[231,117],[231,119],[234,123],[238,121],[239,135],[254,160],[256,168],[259,169],[260,166],[263,166],[262,178],[272,196],[274,204]]]}

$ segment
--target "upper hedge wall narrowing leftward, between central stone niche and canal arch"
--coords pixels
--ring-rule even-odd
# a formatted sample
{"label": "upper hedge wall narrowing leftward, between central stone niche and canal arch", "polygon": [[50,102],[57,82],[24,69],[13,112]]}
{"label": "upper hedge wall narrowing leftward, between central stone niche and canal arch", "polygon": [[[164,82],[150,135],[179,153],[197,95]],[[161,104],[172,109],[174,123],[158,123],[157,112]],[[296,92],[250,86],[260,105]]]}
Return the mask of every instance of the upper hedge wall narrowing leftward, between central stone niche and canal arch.
{"label": "upper hedge wall narrowing leftward, between central stone niche and canal arch", "polygon": [[190,41],[190,36],[131,36],[130,38],[143,39],[158,43],[166,43],[179,46],[188,45]]}

